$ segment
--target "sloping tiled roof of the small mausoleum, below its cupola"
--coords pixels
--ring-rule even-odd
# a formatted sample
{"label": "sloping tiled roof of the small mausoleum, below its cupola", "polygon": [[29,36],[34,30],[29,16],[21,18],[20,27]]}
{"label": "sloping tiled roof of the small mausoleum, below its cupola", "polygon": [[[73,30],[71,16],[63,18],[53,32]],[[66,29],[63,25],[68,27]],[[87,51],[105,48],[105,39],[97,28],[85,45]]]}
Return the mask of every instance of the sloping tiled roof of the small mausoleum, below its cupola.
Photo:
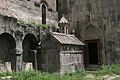
{"label": "sloping tiled roof of the small mausoleum, below its cupola", "polygon": [[50,33],[55,39],[57,39],[61,44],[73,44],[73,45],[84,45],[79,39],[74,35],[63,34],[52,32]]}

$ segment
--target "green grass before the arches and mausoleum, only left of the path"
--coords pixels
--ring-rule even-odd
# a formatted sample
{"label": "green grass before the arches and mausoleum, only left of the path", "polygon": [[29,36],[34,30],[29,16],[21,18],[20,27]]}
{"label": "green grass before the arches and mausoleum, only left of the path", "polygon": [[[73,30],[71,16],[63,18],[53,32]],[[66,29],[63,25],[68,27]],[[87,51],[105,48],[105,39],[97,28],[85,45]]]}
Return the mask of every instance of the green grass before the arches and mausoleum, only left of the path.
{"label": "green grass before the arches and mausoleum, only left of the path", "polygon": [[66,73],[65,75],[60,74],[49,74],[40,71],[21,71],[21,72],[4,72],[0,73],[0,77],[12,76],[15,80],[83,80],[86,75],[85,70],[79,70],[75,73]]}

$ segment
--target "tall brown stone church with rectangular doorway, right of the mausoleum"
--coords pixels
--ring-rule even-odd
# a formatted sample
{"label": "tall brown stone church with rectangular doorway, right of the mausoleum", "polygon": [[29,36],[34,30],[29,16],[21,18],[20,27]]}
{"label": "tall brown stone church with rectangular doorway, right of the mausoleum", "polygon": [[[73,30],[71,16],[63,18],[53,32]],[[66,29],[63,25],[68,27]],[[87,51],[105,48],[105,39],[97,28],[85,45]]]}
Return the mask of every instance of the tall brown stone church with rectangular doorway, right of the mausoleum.
{"label": "tall brown stone church with rectangular doorway, right of the mausoleum", "polygon": [[120,63],[120,0],[58,0],[69,33],[82,40],[86,65]]}

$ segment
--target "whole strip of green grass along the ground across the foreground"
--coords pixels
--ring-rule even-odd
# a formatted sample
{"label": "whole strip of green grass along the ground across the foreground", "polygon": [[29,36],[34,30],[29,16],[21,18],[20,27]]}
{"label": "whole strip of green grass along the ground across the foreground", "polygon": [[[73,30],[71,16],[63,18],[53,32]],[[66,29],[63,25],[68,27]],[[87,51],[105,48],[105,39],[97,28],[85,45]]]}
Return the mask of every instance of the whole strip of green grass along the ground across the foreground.
{"label": "whole strip of green grass along the ground across the foreground", "polygon": [[[87,73],[83,69],[74,73],[66,73],[64,75],[31,70],[20,72],[0,72],[0,77],[12,76],[14,80],[100,80],[100,78],[105,75],[120,75],[120,64],[102,66],[101,69],[92,74],[95,79],[90,79],[91,77],[86,78],[89,74],[91,73]],[[120,80],[120,77],[114,80]]]}

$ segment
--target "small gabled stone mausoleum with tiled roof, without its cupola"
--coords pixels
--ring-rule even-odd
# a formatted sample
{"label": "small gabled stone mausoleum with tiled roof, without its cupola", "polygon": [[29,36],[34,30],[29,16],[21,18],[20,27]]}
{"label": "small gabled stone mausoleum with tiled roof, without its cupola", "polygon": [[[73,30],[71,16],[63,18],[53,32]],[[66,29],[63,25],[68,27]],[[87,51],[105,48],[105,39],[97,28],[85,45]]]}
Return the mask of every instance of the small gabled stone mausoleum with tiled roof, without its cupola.
{"label": "small gabled stone mausoleum with tiled roof, without its cupola", "polygon": [[84,44],[74,35],[52,32],[42,39],[41,69],[48,72],[74,72],[84,68]]}

